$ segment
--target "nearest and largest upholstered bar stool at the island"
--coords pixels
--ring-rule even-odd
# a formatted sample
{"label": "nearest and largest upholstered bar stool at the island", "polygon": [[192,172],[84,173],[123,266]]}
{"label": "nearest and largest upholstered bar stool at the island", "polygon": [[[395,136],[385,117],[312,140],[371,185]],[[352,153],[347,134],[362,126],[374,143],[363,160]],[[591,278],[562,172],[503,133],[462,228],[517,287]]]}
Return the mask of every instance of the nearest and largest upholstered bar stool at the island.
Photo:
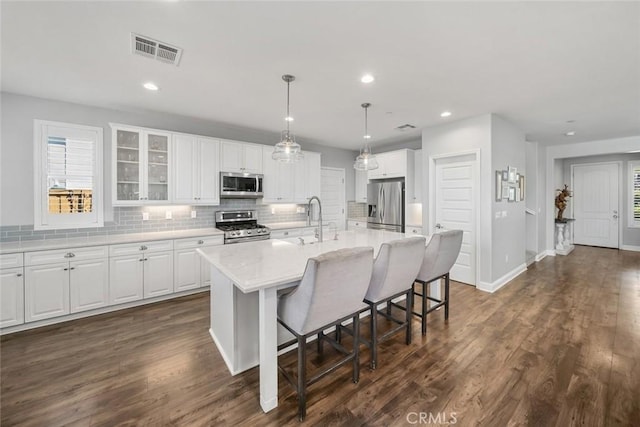
{"label": "nearest and largest upholstered bar stool at the island", "polygon": [[[360,376],[358,315],[366,308],[363,298],[371,280],[373,248],[348,248],[309,258],[300,284],[278,301],[278,322],[291,332],[295,340],[278,346],[278,349],[298,344],[297,380],[278,363],[278,369],[298,393],[298,418],[306,416],[307,387],[339,366],[353,362],[353,382]],[[324,331],[351,319],[354,325],[353,349],[349,352]],[[346,355],[329,368],[307,379],[307,338],[318,335],[318,351],[323,341]]]}

